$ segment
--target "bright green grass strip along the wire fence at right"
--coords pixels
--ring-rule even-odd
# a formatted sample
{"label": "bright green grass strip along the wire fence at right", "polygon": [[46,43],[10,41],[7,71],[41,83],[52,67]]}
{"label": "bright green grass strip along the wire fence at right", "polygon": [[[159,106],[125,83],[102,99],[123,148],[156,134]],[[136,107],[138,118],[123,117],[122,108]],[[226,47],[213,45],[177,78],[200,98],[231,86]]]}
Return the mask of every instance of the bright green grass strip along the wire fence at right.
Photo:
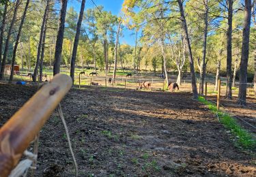
{"label": "bright green grass strip along the wire fence at right", "polygon": [[[214,114],[217,112],[217,107],[214,103],[205,100],[203,97],[199,97],[199,101],[205,103]],[[253,135],[246,131],[246,129],[243,129],[232,116],[219,110],[218,117],[220,118],[220,122],[238,138],[238,144],[240,146],[247,149],[256,147],[256,140],[253,138]]]}

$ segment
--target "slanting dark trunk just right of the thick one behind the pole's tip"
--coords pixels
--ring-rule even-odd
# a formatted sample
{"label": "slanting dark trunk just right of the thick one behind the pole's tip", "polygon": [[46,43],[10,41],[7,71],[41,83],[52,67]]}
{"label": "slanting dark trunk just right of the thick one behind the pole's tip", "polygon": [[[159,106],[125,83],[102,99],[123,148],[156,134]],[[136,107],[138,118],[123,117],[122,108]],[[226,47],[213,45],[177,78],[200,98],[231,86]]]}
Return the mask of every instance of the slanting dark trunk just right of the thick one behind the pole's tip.
{"label": "slanting dark trunk just right of the thick one behind the pole's tip", "polygon": [[74,37],[74,46],[73,46],[72,59],[71,59],[71,65],[70,65],[70,76],[73,80],[73,84],[74,84],[74,63],[76,63],[76,52],[77,52],[77,47],[79,46],[79,35],[80,35],[84,10],[85,10],[85,0],[82,0],[79,20],[76,25],[76,36]]}

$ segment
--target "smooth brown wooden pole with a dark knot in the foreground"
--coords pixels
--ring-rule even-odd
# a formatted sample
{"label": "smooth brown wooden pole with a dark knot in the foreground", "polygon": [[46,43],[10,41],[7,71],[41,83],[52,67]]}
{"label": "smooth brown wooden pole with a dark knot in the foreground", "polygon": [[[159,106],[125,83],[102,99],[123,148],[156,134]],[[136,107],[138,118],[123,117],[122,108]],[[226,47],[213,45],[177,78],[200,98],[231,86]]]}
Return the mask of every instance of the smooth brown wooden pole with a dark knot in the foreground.
{"label": "smooth brown wooden pole with a dark knot in the foreground", "polygon": [[0,176],[10,174],[17,165],[23,152],[35,138],[40,129],[61,99],[72,86],[72,79],[57,74],[52,82],[40,90],[25,103],[0,129]]}

